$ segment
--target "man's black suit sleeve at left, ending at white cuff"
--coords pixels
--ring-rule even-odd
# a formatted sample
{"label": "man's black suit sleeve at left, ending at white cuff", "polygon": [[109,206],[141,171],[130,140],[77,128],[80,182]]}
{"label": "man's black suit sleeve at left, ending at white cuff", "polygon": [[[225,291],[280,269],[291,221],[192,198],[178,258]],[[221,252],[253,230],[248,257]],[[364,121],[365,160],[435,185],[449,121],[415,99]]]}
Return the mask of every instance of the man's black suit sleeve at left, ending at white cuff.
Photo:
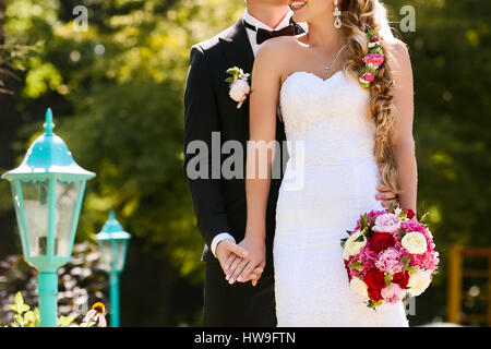
{"label": "man's black suit sleeve at left, ending at white cuff", "polygon": [[[220,232],[230,232],[220,179],[212,179],[212,132],[219,132],[220,123],[211,71],[203,50],[191,49],[191,67],[184,94],[184,171],[196,154],[188,154],[192,141],[207,145],[207,178],[190,179],[188,186],[192,196],[197,228],[211,246],[213,238]],[[216,155],[216,156],[219,156]]]}

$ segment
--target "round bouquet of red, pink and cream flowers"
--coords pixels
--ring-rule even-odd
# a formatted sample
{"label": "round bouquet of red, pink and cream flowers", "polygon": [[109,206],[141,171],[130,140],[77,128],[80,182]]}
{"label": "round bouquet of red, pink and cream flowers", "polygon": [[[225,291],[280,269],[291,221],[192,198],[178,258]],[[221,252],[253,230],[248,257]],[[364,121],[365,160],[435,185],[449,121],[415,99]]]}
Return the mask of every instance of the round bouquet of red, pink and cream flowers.
{"label": "round bouquet of red, pink and cream flowers", "polygon": [[428,227],[411,209],[371,210],[342,239],[351,290],[375,309],[421,294],[438,268],[439,253]]}

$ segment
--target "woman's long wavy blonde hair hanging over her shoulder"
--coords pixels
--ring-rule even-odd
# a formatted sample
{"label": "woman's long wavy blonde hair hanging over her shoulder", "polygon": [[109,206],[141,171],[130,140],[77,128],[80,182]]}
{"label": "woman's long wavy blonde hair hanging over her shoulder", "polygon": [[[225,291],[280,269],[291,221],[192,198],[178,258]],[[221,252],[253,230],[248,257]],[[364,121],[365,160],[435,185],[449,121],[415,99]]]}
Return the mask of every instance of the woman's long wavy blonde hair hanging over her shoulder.
{"label": "woman's long wavy blonde hair hanging over her shoulder", "polygon": [[367,29],[379,31],[385,63],[380,67],[375,80],[370,84],[369,117],[375,121],[375,159],[380,168],[383,183],[393,192],[398,192],[398,171],[394,158],[394,149],[391,143],[391,133],[396,118],[393,103],[394,83],[391,68],[391,52],[384,45],[387,39],[394,38],[388,27],[385,8],[379,0],[342,0],[340,20],[343,31],[348,39],[348,61],[345,63],[345,72],[358,81],[359,70],[364,64],[362,58],[369,51]]}

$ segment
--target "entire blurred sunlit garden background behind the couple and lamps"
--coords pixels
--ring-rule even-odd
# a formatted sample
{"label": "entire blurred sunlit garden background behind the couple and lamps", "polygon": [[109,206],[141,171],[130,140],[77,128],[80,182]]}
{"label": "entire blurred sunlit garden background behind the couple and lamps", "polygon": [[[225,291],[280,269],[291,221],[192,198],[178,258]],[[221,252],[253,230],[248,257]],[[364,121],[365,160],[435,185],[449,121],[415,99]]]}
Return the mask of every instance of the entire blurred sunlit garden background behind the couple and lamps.
{"label": "entire blurred sunlit garden background behind the couple and lamps", "polygon": [[[405,4],[415,9],[415,32],[400,28]],[[88,10],[86,31],[75,31],[76,5]],[[491,2],[386,5],[411,55],[418,208],[429,213],[442,258],[409,321],[489,326]],[[121,325],[201,325],[203,242],[182,170],[183,89],[190,47],[233,24],[243,9],[242,0],[0,0],[1,172],[20,164],[51,107],[55,132],[97,173],[73,258],[59,272],[60,313],[107,304],[94,236],[113,208],[132,233]],[[37,304],[16,229],[9,183],[0,181],[0,324],[12,320],[16,291]],[[452,245],[481,249],[456,249],[451,257]]]}

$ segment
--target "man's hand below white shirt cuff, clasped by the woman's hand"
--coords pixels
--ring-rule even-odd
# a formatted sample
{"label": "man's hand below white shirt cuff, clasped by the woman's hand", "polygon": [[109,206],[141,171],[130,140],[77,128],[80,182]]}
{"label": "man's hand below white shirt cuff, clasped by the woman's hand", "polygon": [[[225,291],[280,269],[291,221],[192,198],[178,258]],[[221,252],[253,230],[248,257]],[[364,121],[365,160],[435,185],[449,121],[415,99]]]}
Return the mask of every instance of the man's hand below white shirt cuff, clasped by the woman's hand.
{"label": "man's hand below white shirt cuff, clasped by the woman's hand", "polygon": [[[243,261],[248,257],[248,251],[243,246],[240,246],[230,239],[221,240],[216,246],[216,257],[218,258],[218,262],[220,263],[221,269],[224,270],[225,275],[229,275],[229,270],[230,274],[233,273],[235,270],[231,269],[231,265],[236,262],[237,266],[240,261]],[[254,268],[248,277],[243,277],[242,282],[252,280],[252,285],[255,286],[262,273],[263,267]],[[230,277],[227,278],[227,280],[229,279]]]}

